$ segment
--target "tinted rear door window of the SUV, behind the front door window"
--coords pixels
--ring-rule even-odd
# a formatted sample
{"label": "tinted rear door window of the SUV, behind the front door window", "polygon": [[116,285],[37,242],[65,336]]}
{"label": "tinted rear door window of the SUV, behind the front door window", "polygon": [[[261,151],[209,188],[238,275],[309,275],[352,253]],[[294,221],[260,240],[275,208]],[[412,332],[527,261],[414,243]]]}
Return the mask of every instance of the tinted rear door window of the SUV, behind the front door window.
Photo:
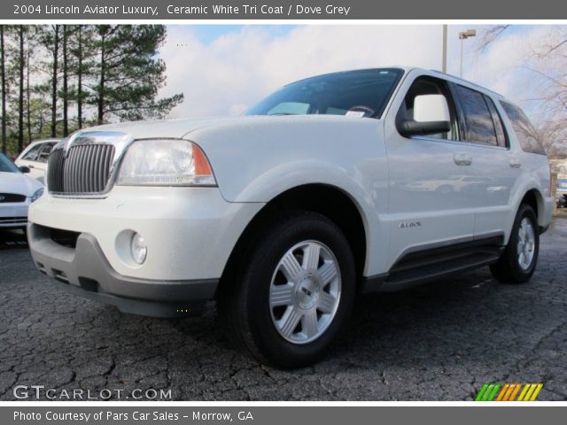
{"label": "tinted rear door window of the SUV, behind the front door window", "polygon": [[493,118],[482,93],[458,85],[455,86],[455,90],[464,114],[465,139],[468,142],[498,146]]}

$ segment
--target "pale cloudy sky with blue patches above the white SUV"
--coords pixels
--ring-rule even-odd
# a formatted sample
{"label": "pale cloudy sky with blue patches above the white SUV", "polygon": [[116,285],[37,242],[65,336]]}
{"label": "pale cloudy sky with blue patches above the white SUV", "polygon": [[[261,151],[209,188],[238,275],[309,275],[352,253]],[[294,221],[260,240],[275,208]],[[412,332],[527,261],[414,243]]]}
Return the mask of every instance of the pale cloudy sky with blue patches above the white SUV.
{"label": "pale cloudy sky with blue patches above the white SUV", "polygon": [[[479,51],[486,27],[448,27],[447,73],[459,75],[458,33],[478,30],[463,42],[462,77],[521,104],[532,104],[521,65],[532,42],[548,27],[513,27]],[[319,73],[378,66],[441,69],[441,25],[172,25],[159,52],[167,65],[161,96],[183,92],[171,118],[227,116],[245,109],[284,84]],[[534,112],[535,113],[535,112]]]}

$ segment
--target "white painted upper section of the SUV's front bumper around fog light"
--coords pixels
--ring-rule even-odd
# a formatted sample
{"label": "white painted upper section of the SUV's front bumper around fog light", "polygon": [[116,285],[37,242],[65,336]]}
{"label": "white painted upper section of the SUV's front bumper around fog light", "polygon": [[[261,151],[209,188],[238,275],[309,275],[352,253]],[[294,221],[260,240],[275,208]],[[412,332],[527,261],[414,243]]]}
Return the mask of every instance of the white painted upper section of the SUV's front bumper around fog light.
{"label": "white painted upper section of the SUV's front bumper around fog light", "polygon": [[[238,237],[262,206],[229,203],[218,188],[117,186],[104,199],[43,195],[31,205],[29,222],[94,236],[110,266],[124,276],[219,279]],[[134,232],[147,244],[142,265],[130,255]]]}

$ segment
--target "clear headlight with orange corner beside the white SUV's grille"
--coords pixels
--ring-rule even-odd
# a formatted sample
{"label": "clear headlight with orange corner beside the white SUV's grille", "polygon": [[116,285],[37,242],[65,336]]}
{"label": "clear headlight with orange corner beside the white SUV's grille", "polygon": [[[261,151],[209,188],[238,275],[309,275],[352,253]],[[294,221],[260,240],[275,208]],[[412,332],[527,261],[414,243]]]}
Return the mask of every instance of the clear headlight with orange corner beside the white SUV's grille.
{"label": "clear headlight with orange corner beside the white SUV's grille", "polygon": [[116,184],[215,186],[205,153],[186,140],[139,140],[128,147]]}

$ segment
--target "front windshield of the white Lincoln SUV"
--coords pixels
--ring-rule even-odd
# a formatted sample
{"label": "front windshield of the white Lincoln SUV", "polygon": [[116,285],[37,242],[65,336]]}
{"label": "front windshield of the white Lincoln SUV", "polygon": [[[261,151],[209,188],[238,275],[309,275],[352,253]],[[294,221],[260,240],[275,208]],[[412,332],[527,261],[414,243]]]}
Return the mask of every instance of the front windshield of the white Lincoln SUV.
{"label": "front windshield of the white Lincoln SUV", "polygon": [[328,73],[292,82],[245,115],[327,114],[379,118],[403,71],[397,68]]}

